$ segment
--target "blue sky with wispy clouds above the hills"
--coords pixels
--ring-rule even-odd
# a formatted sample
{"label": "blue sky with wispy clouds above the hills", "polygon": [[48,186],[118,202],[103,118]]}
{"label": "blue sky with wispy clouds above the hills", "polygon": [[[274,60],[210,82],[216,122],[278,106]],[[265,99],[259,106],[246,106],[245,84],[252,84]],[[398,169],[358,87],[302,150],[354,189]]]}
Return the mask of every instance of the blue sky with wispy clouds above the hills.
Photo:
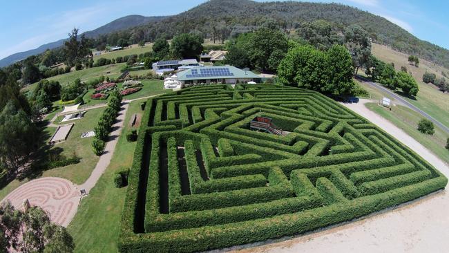
{"label": "blue sky with wispy clouds above the hills", "polygon": [[[72,28],[93,30],[126,15],[175,15],[206,0],[15,0],[0,8],[0,59],[67,37]],[[257,0],[262,1],[262,0]],[[309,0],[314,1],[314,0]],[[320,0],[385,17],[419,39],[449,48],[449,1]]]}

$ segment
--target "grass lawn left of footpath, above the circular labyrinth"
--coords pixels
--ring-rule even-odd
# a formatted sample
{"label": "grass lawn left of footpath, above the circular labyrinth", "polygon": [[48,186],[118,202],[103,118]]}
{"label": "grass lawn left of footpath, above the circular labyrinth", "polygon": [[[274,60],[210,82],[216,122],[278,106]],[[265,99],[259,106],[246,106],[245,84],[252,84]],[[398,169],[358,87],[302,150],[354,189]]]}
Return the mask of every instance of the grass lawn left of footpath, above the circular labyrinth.
{"label": "grass lawn left of footpath, above the circular labyrinth", "polygon": [[[48,171],[43,171],[41,175],[38,176],[55,176],[60,178],[66,178],[75,184],[81,184],[89,176],[90,173],[95,168],[98,162],[98,157],[92,151],[90,143],[92,138],[80,138],[81,134],[85,131],[92,131],[97,125],[97,120],[100,115],[102,115],[105,108],[92,109],[86,111],[84,118],[81,120],[74,120],[75,126],[73,126],[72,131],[70,131],[68,138],[65,142],[60,142],[55,144],[52,149],[60,149],[64,156],[70,157],[75,153],[81,162],[76,165],[68,165],[66,167],[59,167],[55,169],[49,169]],[[55,127],[46,127],[44,130],[47,132],[48,136],[56,131]],[[13,180],[6,187],[0,190],[0,198],[4,198],[10,191],[28,182],[25,180]]]}

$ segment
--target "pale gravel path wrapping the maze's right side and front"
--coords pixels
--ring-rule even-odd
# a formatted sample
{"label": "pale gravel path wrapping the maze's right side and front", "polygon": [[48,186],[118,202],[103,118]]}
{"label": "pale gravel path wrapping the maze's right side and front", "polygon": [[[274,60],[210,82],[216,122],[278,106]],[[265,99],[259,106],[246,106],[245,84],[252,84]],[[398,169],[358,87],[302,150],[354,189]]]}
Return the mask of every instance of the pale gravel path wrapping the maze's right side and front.
{"label": "pale gravel path wrapping the maze's right side and front", "polygon": [[[371,100],[345,104],[364,118],[410,147],[441,173],[449,176],[449,167],[419,142],[380,115],[365,107]],[[245,245],[236,252],[448,252],[449,194],[439,191],[399,208],[373,214],[344,225],[269,244]]]}

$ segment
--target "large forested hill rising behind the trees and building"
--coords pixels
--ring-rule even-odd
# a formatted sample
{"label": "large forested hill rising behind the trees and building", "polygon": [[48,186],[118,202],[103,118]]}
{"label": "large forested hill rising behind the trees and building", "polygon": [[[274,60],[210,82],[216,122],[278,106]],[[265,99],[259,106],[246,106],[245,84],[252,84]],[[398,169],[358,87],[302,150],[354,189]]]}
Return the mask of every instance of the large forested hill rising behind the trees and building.
{"label": "large forested hill rising behind the trees and building", "polygon": [[273,24],[291,32],[305,22],[318,19],[329,21],[341,30],[345,26],[359,24],[379,44],[449,67],[449,50],[422,41],[383,17],[338,3],[211,0],[179,15],[133,28],[131,33],[139,33],[146,41],[153,41],[161,35],[170,38],[180,32],[195,31],[204,37],[220,39]]}

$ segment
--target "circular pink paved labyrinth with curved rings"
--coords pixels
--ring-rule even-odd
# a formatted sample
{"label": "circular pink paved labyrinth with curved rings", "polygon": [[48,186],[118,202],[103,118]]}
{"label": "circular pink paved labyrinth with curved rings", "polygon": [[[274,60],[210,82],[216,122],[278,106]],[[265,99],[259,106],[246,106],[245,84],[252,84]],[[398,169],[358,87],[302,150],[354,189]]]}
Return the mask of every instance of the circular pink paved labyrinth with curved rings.
{"label": "circular pink paved labyrinth with curved rings", "polygon": [[23,210],[23,201],[32,207],[39,206],[50,215],[52,222],[66,227],[77,212],[81,195],[72,182],[64,178],[39,178],[31,180],[12,191],[2,202],[9,200]]}

